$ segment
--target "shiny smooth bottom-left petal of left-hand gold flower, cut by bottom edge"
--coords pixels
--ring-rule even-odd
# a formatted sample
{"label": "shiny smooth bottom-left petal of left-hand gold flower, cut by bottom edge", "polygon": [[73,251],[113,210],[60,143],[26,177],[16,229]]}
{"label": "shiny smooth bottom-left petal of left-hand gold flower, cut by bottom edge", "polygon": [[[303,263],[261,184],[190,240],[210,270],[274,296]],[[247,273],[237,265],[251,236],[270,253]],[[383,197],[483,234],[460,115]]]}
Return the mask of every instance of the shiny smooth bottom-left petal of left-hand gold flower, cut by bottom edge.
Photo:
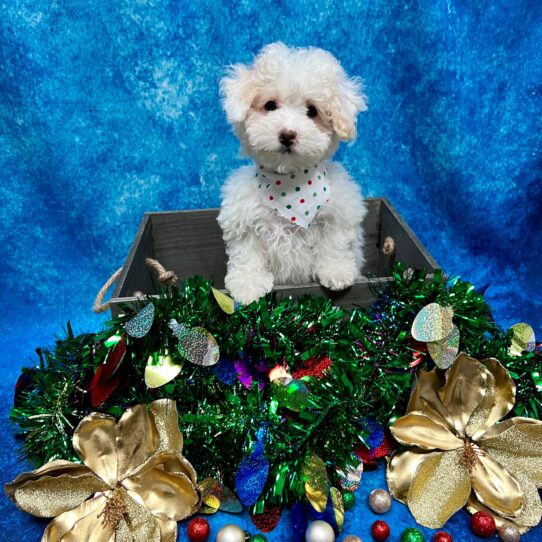
{"label": "shiny smooth bottom-left petal of left-hand gold flower, cut by bottom edge", "polygon": [[106,502],[105,496],[101,495],[61,514],[49,523],[41,542],[113,542],[115,529],[98,519]]}

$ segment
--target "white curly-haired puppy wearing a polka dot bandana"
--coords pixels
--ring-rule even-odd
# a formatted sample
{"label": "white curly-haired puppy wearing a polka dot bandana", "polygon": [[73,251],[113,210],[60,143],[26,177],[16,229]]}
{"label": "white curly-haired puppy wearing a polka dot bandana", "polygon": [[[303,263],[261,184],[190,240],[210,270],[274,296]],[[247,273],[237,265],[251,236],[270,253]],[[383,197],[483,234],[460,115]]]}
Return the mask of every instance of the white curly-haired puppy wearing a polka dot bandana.
{"label": "white curly-haired puppy wearing a polka dot bandana", "polygon": [[358,185],[329,159],[356,137],[367,109],[360,81],[327,51],[273,43],[252,65],[232,66],[220,86],[228,121],[256,162],[222,190],[226,288],[246,304],[274,284],[351,286],[364,263],[366,209]]}

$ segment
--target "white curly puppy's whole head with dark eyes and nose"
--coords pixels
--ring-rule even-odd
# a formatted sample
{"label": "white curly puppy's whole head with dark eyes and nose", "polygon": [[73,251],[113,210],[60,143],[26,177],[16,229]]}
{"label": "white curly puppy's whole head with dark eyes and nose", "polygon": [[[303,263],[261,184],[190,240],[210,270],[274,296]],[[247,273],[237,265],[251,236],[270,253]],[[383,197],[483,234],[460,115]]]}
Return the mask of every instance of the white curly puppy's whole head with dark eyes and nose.
{"label": "white curly puppy's whole head with dark eyes and nose", "polygon": [[321,49],[268,45],[250,67],[222,80],[224,108],[242,146],[259,164],[289,172],[329,158],[355,138],[366,109],[358,81]]}

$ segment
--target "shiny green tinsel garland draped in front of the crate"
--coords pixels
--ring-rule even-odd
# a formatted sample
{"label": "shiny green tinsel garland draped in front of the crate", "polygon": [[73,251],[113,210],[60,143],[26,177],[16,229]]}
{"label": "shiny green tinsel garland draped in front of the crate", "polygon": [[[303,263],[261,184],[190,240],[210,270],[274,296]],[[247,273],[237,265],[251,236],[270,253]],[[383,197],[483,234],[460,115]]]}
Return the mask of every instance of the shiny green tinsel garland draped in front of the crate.
{"label": "shiny green tinsel garland draped in front of the crate", "polygon": [[[122,334],[136,311],[126,308],[125,316],[111,320],[97,334],[75,337],[68,325],[66,337],[54,349],[38,351],[38,367],[23,369],[11,417],[21,429],[25,452],[38,465],[59,458],[76,460],[71,435],[89,412],[120,416],[132,404],[174,398],[185,453],[200,478],[218,477],[233,487],[238,465],[250,455],[263,427],[270,475],[257,508],[299,501],[304,495],[301,472],[306,457],[318,456],[330,476],[336,476],[336,469],[359,463],[353,447],[367,436],[365,418],[375,417],[387,426],[404,413],[415,374],[410,364],[420,347],[410,328],[418,311],[431,302],[454,308],[462,351],[479,359],[497,357],[508,368],[518,386],[516,414],[539,418],[535,379],[536,372],[542,372],[542,357],[509,356],[509,334],[492,321],[483,296],[471,284],[444,281],[439,272],[428,280],[426,273],[406,273],[401,265],[393,277],[368,308],[345,311],[320,297],[277,300],[270,294],[232,315],[219,308],[209,282],[188,279],[152,299],[156,311],[152,329],[142,339],[129,339],[123,381],[98,409],[90,405],[88,388],[109,352],[105,341]],[[221,382],[212,368],[189,363],[176,379],[150,390],[143,381],[150,355],[167,349],[182,363],[168,327],[171,318],[209,330],[224,359],[243,355],[264,360],[269,369],[286,363],[290,371],[318,356],[333,364],[324,378],[303,378],[310,393],[300,412],[282,405],[280,390],[270,383],[247,390],[239,381]],[[430,366],[426,356],[418,367]]]}

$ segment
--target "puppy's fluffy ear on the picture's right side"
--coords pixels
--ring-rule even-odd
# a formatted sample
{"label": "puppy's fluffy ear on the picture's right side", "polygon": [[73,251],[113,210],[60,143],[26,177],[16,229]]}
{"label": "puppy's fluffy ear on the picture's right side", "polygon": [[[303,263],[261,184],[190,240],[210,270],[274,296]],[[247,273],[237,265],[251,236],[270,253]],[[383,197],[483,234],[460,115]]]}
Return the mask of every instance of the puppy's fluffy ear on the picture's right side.
{"label": "puppy's fluffy ear on the picture's right side", "polygon": [[346,74],[338,77],[331,101],[331,122],[342,141],[356,139],[356,120],[358,113],[367,111],[366,99],[360,79],[349,79]]}

